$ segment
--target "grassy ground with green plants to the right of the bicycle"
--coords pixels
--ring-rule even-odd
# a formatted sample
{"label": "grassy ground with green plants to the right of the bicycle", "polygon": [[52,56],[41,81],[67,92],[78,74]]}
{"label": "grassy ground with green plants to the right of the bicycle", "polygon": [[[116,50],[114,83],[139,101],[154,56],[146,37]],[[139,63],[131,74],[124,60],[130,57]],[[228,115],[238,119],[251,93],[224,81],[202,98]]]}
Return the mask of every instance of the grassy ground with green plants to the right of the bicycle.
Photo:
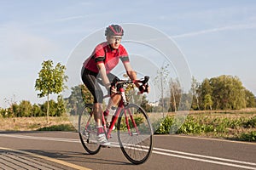
{"label": "grassy ground with green plants to the right of the bicycle", "polygon": [[[155,133],[170,133],[172,125],[175,124],[174,116],[166,116],[166,118],[159,123],[160,126],[156,128]],[[234,113],[193,114],[187,116],[185,122],[183,122],[176,133],[256,141],[256,115]]]}

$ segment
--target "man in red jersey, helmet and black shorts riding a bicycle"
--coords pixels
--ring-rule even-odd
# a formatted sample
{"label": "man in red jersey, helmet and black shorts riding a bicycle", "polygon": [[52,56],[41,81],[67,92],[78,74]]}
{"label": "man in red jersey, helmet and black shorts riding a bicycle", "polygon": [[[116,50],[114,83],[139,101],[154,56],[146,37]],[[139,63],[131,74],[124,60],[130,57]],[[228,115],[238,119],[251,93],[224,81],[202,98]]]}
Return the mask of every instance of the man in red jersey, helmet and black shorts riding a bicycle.
{"label": "man in red jersey, helmet and black shorts riding a bicycle", "polygon": [[[111,87],[111,82],[117,80],[118,77],[110,73],[110,71],[118,65],[119,59],[122,61],[128,77],[130,77],[131,80],[137,79],[136,72],[131,68],[127,51],[125,47],[120,44],[123,35],[124,30],[121,26],[108,26],[105,31],[107,41],[96,46],[90,57],[84,61],[82,69],[82,80],[84,85],[90,90],[90,93],[94,97],[93,114],[96,121],[97,142],[102,146],[108,146],[110,143],[108,142],[108,139],[104,134],[104,128],[102,127],[103,93],[102,88],[99,86],[99,82],[102,82],[111,96],[108,107],[106,111],[104,111],[104,116],[107,117],[110,107],[118,105],[121,99],[120,94],[116,94],[116,89]],[[138,83],[135,83],[135,85],[141,92],[145,90],[144,86],[140,86]]]}

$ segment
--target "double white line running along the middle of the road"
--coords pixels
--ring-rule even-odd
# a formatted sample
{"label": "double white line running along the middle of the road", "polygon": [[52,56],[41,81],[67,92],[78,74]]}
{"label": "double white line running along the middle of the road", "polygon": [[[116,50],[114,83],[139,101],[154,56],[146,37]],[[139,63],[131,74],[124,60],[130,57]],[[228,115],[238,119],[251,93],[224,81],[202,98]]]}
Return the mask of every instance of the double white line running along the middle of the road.
{"label": "double white line running along the middle of the road", "polygon": [[[20,138],[20,139],[37,139],[37,140],[50,140],[50,141],[58,141],[58,142],[73,142],[73,143],[80,143],[79,139],[62,139],[62,138],[51,138],[51,137],[37,137],[37,136],[27,136],[27,135],[19,135],[19,134],[0,134],[2,137],[9,137],[9,138]],[[119,147],[118,143],[112,143],[111,146]],[[214,163],[218,165],[224,165],[229,167],[239,167],[243,169],[254,169],[256,170],[256,163],[248,162],[248,161],[237,161],[232,159],[225,159],[221,157],[215,156],[204,156],[199,154],[193,154],[189,152],[182,152],[177,150],[166,150],[161,148],[154,148],[154,154],[163,155],[163,156],[173,156],[183,159],[189,159],[194,161],[203,161]],[[255,167],[249,167],[255,166]]]}

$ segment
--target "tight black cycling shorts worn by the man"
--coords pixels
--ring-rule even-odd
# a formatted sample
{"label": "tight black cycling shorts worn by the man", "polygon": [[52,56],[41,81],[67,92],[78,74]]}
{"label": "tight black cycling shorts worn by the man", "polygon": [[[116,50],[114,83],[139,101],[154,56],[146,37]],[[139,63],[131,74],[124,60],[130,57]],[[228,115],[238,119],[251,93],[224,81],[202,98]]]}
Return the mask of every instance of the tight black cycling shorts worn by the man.
{"label": "tight black cycling shorts worn by the man", "polygon": [[[112,73],[108,73],[108,80],[113,82],[114,79],[119,79],[118,77],[114,76]],[[89,89],[90,94],[93,95],[94,103],[101,103],[103,102],[103,92],[100,84],[102,84],[101,78],[98,73],[89,71],[87,69],[82,68],[81,72],[82,81],[86,88]],[[102,84],[103,86],[103,84]]]}

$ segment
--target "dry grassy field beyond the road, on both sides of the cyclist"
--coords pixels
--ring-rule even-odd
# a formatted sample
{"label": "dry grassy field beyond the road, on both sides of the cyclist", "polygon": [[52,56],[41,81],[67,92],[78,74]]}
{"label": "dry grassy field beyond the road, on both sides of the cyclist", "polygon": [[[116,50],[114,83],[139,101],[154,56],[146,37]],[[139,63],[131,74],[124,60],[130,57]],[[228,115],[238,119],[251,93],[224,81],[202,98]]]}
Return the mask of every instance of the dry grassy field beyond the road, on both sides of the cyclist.
{"label": "dry grassy field beyond the road, on both sides of the cyclist", "polygon": [[[169,133],[173,113],[161,122],[156,133]],[[0,131],[75,131],[67,116],[1,118]],[[256,108],[240,111],[190,111],[180,134],[256,141]]]}

